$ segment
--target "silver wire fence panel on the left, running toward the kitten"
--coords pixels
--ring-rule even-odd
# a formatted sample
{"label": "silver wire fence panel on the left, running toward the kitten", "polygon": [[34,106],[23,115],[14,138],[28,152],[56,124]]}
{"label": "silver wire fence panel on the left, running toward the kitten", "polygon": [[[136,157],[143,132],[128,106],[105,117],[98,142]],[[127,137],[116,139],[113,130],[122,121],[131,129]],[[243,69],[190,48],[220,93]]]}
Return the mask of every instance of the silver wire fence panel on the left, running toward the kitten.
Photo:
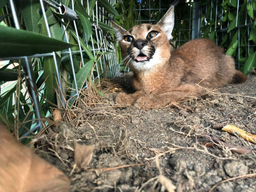
{"label": "silver wire fence panel on the left, running toward the kitten", "polygon": [[[82,66],[86,65],[84,61],[84,55],[86,52],[86,48],[89,49],[90,52],[92,52],[93,56],[96,58],[98,51],[101,53],[108,53],[108,54],[102,54],[102,57],[99,57],[98,62],[95,65],[95,70],[92,72],[92,81],[96,81],[100,79],[100,76],[106,77],[106,78],[115,78],[118,76],[119,73],[119,62],[117,59],[117,55],[115,53],[115,42],[111,41],[110,33],[104,33],[102,31],[102,26],[103,27],[108,27],[111,26],[111,22],[109,21],[108,18],[113,17],[111,13],[108,11],[104,11],[104,7],[98,6],[98,2],[94,1],[95,5],[92,10],[92,21],[91,21],[91,27],[93,32],[89,37],[86,36],[84,33],[83,35],[83,40],[79,37],[78,33],[78,15],[74,11],[74,0],[70,1],[61,1],[59,0],[58,2],[54,0],[38,0],[40,2],[40,9],[41,9],[41,14],[42,18],[46,24],[46,30],[47,30],[47,35],[48,37],[52,37],[50,27],[48,24],[48,18],[47,18],[47,11],[49,9],[54,9],[56,13],[63,15],[66,18],[69,18],[69,22],[72,22],[72,26],[74,27],[74,32],[75,32],[75,38],[78,42],[78,47],[79,50],[71,50],[70,48],[68,50],[62,51],[60,54],[62,55],[62,58],[69,58],[70,61],[70,66],[71,66],[71,71],[69,71],[71,74],[75,74],[75,66],[74,66],[74,55],[80,55],[81,59],[81,64]],[[76,0],[80,1],[81,5],[86,7],[88,13],[89,11],[89,0],[83,1],[83,0]],[[65,4],[62,4],[65,3]],[[86,3],[86,5],[84,5]],[[109,0],[109,3],[114,6],[116,3],[116,0]],[[5,14],[11,14],[11,17],[8,17],[6,19],[7,25],[11,27],[15,27],[16,29],[20,29],[20,23],[17,18],[17,12],[19,11],[19,7],[15,5],[14,0],[9,0],[9,2],[6,4],[4,7],[4,11],[6,12]],[[65,13],[63,13],[65,11]],[[67,30],[65,26],[65,22],[63,18],[61,19],[61,29],[63,33],[63,41],[69,43],[69,38],[67,34]],[[100,23],[100,24],[99,24]],[[101,27],[100,27],[101,26]],[[85,48],[86,47],[86,48]],[[79,92],[83,89],[87,88],[87,82],[85,82],[85,86],[82,87],[82,89],[78,88],[77,85],[77,79],[76,76],[74,75],[74,94],[70,96],[69,100],[66,100],[65,96],[63,95],[63,86],[61,86],[61,70],[58,66],[57,58],[56,58],[56,52],[48,53],[48,54],[36,54],[36,55],[24,55],[22,57],[3,57],[0,58],[0,61],[5,61],[5,63],[8,63],[10,60],[11,61],[19,61],[24,62],[26,67],[23,68],[24,72],[26,72],[27,77],[26,79],[29,81],[29,86],[31,90],[31,102],[33,103],[33,108],[34,108],[34,120],[33,124],[31,127],[26,127],[29,131],[24,133],[20,138],[26,138],[32,133],[39,132],[45,125],[42,122],[42,116],[41,116],[41,106],[39,105],[39,100],[42,99],[41,95],[38,94],[40,93],[40,90],[36,87],[37,82],[34,82],[32,79],[32,74],[33,74],[33,68],[30,66],[30,58],[42,58],[42,57],[52,57],[53,58],[53,63],[51,64],[52,66],[55,67],[56,69],[56,74],[54,76],[56,77],[57,85],[58,87],[55,87],[56,90],[59,92],[58,96],[60,97],[61,101],[58,103],[59,108],[65,109],[69,104],[69,102],[72,102],[75,98],[79,96]],[[41,72],[41,74],[43,71]],[[39,75],[40,76],[40,75]],[[37,79],[38,80],[38,79]],[[27,93],[27,92],[26,92]],[[25,93],[25,94],[26,94]],[[3,93],[3,95],[5,92]],[[26,97],[26,95],[24,95]],[[21,108],[22,109],[22,108]],[[24,109],[22,109],[24,110]],[[50,114],[48,114],[50,115]]]}

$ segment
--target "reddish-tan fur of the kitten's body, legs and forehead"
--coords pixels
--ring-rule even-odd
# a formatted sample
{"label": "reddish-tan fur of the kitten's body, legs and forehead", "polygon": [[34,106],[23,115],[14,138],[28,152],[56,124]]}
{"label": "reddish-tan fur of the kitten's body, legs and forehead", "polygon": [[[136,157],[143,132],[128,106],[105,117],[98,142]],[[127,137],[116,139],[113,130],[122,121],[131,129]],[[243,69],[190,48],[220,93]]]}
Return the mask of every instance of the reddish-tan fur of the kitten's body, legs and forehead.
{"label": "reddish-tan fur of the kitten's body, legs and forehead", "polygon": [[[170,102],[178,102],[188,96],[203,92],[199,86],[214,89],[223,87],[232,81],[244,82],[246,76],[235,69],[234,59],[225,55],[222,48],[209,39],[195,39],[171,52],[169,41],[161,31],[161,26],[141,24],[126,31],[136,39],[145,39],[147,31],[157,30],[160,36],[152,39],[152,44],[159,48],[160,58],[156,65],[147,70],[134,70],[134,94],[121,93],[116,98],[119,104],[134,104],[139,109],[157,109]],[[129,44],[120,41],[122,54],[127,56]],[[147,47],[145,48],[145,50]],[[133,48],[136,51],[136,49]],[[133,51],[132,50],[132,51]],[[131,51],[131,52],[132,52]],[[132,52],[132,54],[134,54]],[[124,62],[127,63],[129,59]],[[235,79],[235,80],[234,80]]]}

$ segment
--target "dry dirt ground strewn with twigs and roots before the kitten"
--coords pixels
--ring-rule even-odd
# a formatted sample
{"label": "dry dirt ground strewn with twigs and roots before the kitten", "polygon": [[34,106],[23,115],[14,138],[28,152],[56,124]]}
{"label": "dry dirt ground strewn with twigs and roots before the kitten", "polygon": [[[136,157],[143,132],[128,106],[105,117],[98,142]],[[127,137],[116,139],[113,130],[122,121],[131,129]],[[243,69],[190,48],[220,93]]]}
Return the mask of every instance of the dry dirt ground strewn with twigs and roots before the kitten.
{"label": "dry dirt ground strewn with twigs and roots before the kitten", "polygon": [[[129,77],[118,82],[129,87]],[[82,105],[70,123],[63,122],[48,133],[56,153],[37,151],[69,176],[72,192],[154,192],[164,191],[157,182],[156,149],[161,150],[159,164],[162,174],[176,186],[176,192],[255,192],[256,155],[231,152],[219,145],[206,147],[210,138],[255,150],[256,145],[213,125],[233,124],[256,134],[256,76],[239,85],[227,85],[182,104],[193,112],[167,106],[158,110],[137,110],[133,106],[115,107],[110,92],[118,85],[102,83],[101,104]],[[91,126],[89,126],[89,124]],[[72,170],[74,145],[95,145],[88,171]],[[167,152],[166,152],[167,151]],[[164,153],[163,153],[164,152]],[[132,165],[102,171],[100,168]],[[238,177],[237,179],[233,177]]]}

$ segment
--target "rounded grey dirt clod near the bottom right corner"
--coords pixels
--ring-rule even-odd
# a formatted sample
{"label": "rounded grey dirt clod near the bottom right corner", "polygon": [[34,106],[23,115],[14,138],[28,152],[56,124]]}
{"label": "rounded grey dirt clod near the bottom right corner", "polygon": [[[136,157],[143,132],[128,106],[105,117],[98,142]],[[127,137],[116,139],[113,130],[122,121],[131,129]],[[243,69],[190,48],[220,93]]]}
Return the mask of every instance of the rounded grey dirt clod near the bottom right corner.
{"label": "rounded grey dirt clod near the bottom right corner", "polygon": [[225,164],[224,169],[230,177],[246,175],[248,172],[247,166],[237,161]]}

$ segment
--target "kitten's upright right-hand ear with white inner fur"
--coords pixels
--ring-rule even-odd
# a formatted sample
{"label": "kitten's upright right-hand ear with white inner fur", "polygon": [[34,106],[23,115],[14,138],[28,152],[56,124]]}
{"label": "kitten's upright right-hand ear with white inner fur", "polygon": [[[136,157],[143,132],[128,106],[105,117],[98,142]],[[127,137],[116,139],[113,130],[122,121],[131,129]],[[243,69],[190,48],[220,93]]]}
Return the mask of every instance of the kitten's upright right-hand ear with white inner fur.
{"label": "kitten's upright right-hand ear with white inner fur", "polygon": [[161,30],[165,33],[167,39],[171,40],[174,27],[174,6],[170,7],[157,24],[161,26]]}

